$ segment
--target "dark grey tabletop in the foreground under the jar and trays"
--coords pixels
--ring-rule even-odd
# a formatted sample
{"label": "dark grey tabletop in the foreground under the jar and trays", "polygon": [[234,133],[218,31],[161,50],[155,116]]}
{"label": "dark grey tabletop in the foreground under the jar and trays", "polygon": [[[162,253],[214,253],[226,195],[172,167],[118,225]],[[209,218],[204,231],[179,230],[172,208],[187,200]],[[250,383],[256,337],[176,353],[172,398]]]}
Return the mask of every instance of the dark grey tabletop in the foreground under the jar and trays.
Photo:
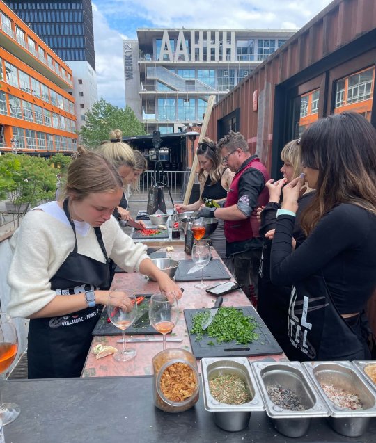
{"label": "dark grey tabletop in the foreground under the jar and trays", "polygon": [[19,418],[4,426],[6,443],[180,443],[180,442],[354,442],[376,441],[376,418],[361,437],[343,437],[326,419],[313,419],[304,437],[279,434],[263,412],[253,412],[249,427],[236,433],[218,428],[202,395],[186,412],[158,410],[151,377],[8,380],[3,401],[21,407]]}

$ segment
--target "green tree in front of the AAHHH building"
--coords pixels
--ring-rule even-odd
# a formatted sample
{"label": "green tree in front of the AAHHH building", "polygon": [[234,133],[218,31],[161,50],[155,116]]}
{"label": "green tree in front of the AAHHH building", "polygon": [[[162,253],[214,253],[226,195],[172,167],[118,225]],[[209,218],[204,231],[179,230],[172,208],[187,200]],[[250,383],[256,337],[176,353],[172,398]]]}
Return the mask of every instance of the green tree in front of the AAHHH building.
{"label": "green tree in front of the AAHHH building", "polygon": [[136,118],[130,108],[118,108],[104,99],[93,104],[90,111],[85,113],[85,124],[79,135],[89,148],[95,148],[103,140],[109,139],[113,129],[121,129],[123,136],[143,136],[146,134],[143,124]]}

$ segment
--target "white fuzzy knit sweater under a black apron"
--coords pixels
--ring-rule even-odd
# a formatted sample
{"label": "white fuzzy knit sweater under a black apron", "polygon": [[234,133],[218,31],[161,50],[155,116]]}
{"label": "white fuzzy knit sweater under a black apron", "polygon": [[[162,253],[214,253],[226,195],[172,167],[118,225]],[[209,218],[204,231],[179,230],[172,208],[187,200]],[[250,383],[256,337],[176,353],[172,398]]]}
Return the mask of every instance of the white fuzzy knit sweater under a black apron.
{"label": "white fuzzy knit sweater under a black apron", "polygon": [[[29,211],[10,239],[13,259],[7,311],[11,316],[27,318],[56,296],[49,280],[75,246],[75,235],[63,210],[56,202],[47,205],[39,207],[42,211]],[[77,252],[104,263],[93,227],[84,222],[75,222],[75,227]],[[146,246],[134,243],[113,216],[100,229],[107,255],[127,272],[139,271],[141,261],[148,257]]]}

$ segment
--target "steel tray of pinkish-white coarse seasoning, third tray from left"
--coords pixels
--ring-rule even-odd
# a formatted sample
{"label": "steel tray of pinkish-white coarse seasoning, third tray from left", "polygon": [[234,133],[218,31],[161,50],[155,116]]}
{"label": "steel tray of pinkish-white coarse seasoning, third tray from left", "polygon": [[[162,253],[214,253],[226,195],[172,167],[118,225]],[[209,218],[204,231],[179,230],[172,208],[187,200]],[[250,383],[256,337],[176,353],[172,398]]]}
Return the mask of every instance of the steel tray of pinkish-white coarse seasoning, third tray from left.
{"label": "steel tray of pinkish-white coarse seasoning, third tray from left", "polygon": [[[370,417],[376,416],[376,396],[354,365],[351,362],[304,362],[303,367],[327,404],[331,427],[346,437],[362,435],[368,428]],[[340,408],[324,393],[323,383],[357,394],[363,409]]]}

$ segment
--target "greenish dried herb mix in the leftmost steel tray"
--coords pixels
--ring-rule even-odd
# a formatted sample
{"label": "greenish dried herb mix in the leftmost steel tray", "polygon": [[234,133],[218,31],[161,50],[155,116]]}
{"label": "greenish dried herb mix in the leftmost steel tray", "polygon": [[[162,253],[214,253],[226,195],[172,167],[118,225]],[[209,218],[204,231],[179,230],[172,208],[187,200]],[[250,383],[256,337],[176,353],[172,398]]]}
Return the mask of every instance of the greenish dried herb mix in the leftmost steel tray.
{"label": "greenish dried herb mix in the leftmost steel tray", "polygon": [[242,405],[252,400],[244,380],[232,374],[212,378],[209,388],[213,398],[227,405]]}

